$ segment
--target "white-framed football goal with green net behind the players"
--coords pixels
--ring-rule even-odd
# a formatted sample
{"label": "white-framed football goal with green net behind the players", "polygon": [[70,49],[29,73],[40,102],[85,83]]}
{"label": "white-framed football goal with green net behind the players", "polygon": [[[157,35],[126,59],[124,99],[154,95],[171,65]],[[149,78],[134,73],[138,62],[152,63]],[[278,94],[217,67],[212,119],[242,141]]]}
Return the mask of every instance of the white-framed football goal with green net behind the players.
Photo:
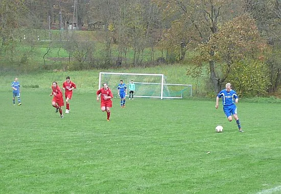
{"label": "white-framed football goal with green net behind the players", "polygon": [[192,85],[168,84],[163,74],[132,74],[122,72],[100,72],[99,89],[103,83],[107,83],[114,96],[118,94],[120,80],[127,86],[129,95],[129,83],[135,84],[134,97],[159,98],[159,99],[182,99],[192,96]]}

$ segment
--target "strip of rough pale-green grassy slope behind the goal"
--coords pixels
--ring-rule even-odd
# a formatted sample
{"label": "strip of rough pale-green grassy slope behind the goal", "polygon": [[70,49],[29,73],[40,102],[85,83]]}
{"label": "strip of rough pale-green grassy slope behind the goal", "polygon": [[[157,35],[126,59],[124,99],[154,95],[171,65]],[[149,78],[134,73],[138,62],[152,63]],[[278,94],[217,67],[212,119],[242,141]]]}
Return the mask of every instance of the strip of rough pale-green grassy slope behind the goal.
{"label": "strip of rough pale-green grassy slope behind the goal", "polygon": [[[106,69],[106,70],[90,70],[90,71],[66,71],[66,72],[42,72],[41,74],[29,74],[29,75],[6,75],[0,76],[3,80],[2,85],[4,88],[0,90],[10,90],[10,83],[14,77],[18,77],[22,86],[29,89],[33,85],[39,85],[39,88],[50,88],[52,81],[62,83],[66,76],[70,76],[71,79],[77,84],[77,92],[95,91],[98,89],[99,72],[132,72],[132,73],[147,73],[147,74],[164,74],[166,76],[167,83],[171,84],[192,84],[193,89],[199,87],[199,91],[202,92],[204,85],[198,85],[198,81],[194,81],[185,75],[186,68],[183,65],[161,65],[150,68],[131,68],[131,69]],[[23,88],[25,89],[25,88]]]}

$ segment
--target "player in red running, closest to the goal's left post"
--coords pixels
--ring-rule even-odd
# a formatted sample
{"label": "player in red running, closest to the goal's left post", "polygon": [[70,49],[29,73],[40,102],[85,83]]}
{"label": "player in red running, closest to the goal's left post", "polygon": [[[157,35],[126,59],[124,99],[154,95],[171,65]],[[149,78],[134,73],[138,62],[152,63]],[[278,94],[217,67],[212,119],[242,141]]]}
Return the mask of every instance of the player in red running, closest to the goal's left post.
{"label": "player in red running, closest to the goal's left post", "polygon": [[101,110],[107,112],[107,121],[110,117],[110,108],[112,107],[113,94],[108,88],[107,83],[103,83],[103,88],[97,91],[97,102],[99,102],[99,95],[101,94]]}

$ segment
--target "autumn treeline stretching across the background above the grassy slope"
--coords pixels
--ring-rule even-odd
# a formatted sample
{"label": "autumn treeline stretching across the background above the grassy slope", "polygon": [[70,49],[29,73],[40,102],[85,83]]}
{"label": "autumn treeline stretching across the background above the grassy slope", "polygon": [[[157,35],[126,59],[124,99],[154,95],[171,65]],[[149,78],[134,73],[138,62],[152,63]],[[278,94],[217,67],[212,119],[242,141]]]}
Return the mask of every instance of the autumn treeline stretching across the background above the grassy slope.
{"label": "autumn treeline stretching across the background above the grassy slope", "polygon": [[[78,70],[183,63],[194,78],[207,72],[211,90],[231,82],[245,96],[280,84],[280,0],[1,0],[0,17],[0,56],[10,64],[31,65],[16,45],[43,39],[42,68],[58,48]],[[22,41],[25,32],[37,34]]]}

